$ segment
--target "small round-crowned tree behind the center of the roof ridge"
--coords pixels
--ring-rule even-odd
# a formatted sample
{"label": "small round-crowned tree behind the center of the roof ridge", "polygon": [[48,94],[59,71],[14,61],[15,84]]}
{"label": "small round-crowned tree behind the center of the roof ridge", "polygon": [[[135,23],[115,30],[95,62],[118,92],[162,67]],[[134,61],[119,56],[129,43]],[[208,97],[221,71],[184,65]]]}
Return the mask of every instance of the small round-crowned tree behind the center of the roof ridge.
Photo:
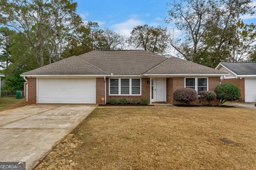
{"label": "small round-crowned tree behind the center of the roof ridge", "polygon": [[162,54],[167,48],[167,29],[161,26],[150,27],[148,25],[133,28],[129,38],[129,44],[135,48]]}

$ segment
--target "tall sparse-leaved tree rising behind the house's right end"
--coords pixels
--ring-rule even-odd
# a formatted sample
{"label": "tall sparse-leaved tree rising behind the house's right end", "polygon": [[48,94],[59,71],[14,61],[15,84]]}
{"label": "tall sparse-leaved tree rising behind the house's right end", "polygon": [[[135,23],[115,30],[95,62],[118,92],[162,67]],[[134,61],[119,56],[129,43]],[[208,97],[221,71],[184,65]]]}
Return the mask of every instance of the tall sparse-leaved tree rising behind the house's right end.
{"label": "tall sparse-leaved tree rising behind the house's right end", "polygon": [[187,60],[206,66],[231,60],[230,46],[239,44],[232,41],[237,22],[241,15],[254,13],[251,4],[251,0],[172,1],[166,21],[175,22],[183,39],[172,38],[171,45]]}

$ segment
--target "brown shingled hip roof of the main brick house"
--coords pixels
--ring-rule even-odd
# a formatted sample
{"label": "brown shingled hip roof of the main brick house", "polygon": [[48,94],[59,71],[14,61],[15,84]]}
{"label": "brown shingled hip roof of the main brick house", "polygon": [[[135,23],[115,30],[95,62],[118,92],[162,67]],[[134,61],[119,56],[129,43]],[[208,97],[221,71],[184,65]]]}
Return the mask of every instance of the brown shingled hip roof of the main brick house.
{"label": "brown shingled hip roof of the main brick house", "polygon": [[23,73],[26,75],[225,74],[175,57],[144,50],[91,51]]}

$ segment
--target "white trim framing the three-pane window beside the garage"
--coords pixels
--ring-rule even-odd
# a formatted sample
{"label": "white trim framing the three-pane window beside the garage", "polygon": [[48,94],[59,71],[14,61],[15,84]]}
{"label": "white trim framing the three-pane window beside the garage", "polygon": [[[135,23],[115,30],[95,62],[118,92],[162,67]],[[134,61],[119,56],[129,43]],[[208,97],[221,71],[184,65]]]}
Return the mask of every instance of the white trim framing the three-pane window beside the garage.
{"label": "white trim framing the three-pane window beside the garage", "polygon": [[[110,79],[118,79],[118,94],[110,94]],[[121,79],[129,79],[129,93],[121,94]],[[140,79],[140,94],[132,94],[132,79]],[[108,95],[110,96],[141,96],[141,78],[109,78],[108,80]]]}

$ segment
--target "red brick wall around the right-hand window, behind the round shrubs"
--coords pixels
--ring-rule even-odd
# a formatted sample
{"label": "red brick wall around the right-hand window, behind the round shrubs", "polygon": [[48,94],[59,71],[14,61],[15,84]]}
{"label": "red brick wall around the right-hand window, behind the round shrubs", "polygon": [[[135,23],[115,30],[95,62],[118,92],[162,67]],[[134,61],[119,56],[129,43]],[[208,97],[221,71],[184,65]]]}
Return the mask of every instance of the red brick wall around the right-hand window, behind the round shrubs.
{"label": "red brick wall around the right-hand window, behind the round shrubs", "polygon": [[[214,91],[215,87],[220,84],[220,77],[209,77],[209,91]],[[184,104],[173,100],[173,92],[178,88],[185,87],[184,77],[173,77],[166,79],[166,102],[172,104]],[[199,104],[199,100],[192,102],[191,104]],[[213,102],[214,105],[219,104],[219,100]]]}

